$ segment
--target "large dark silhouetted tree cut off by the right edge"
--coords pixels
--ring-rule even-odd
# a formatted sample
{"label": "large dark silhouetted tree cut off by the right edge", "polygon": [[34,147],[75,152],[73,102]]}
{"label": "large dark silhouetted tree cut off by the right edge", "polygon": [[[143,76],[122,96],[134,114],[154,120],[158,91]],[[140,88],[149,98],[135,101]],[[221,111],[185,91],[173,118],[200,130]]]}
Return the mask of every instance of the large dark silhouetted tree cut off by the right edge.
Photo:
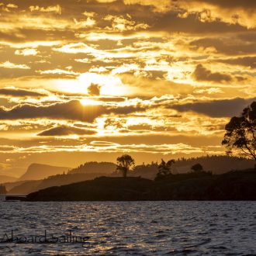
{"label": "large dark silhouetted tree cut off by the right edge", "polygon": [[252,102],[240,116],[234,116],[225,126],[222,144],[227,154],[241,154],[256,161],[256,102]]}

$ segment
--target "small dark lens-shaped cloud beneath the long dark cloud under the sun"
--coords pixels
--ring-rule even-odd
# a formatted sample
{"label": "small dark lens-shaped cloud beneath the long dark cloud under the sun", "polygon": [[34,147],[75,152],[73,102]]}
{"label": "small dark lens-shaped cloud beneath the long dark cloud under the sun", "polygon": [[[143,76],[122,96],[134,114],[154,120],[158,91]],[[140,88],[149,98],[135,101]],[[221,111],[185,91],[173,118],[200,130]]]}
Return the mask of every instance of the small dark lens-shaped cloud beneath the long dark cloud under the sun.
{"label": "small dark lens-shaped cloud beneath the long dark cloud under the sun", "polygon": [[92,135],[96,132],[94,130],[81,129],[70,126],[57,126],[44,130],[42,133],[38,133],[38,136],[68,136],[68,135]]}

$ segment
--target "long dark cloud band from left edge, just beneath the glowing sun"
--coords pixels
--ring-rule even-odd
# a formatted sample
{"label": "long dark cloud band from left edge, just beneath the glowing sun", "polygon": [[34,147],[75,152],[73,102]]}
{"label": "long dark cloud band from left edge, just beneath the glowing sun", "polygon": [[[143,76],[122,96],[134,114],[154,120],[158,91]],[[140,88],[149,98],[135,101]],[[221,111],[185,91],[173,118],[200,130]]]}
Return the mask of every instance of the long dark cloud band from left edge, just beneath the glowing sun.
{"label": "long dark cloud band from left edge, just beneath the glowing sun", "polygon": [[145,109],[140,106],[82,106],[78,100],[58,102],[48,106],[19,105],[12,109],[0,108],[0,119],[68,119],[92,123],[95,118],[103,114],[129,114]]}

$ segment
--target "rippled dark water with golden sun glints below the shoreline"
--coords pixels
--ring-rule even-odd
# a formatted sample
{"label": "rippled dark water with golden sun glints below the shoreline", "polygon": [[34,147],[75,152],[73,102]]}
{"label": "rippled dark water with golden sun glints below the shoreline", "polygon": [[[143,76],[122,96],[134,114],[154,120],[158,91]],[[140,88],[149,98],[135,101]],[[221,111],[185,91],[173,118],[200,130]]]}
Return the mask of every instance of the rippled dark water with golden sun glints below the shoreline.
{"label": "rippled dark water with golden sun glints below the shoreline", "polygon": [[87,237],[0,255],[256,255],[256,202],[0,202],[0,216],[0,237]]}

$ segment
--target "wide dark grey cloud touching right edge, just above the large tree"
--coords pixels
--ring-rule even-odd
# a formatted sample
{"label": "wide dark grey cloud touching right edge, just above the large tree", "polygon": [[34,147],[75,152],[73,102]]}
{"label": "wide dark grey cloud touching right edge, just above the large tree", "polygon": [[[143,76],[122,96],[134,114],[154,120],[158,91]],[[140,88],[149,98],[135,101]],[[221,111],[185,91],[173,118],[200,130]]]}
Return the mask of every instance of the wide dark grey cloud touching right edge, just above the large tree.
{"label": "wide dark grey cloud touching right edge, just above the large tree", "polygon": [[169,109],[176,109],[180,112],[198,112],[206,116],[211,117],[231,117],[237,116],[240,112],[251,102],[255,101],[253,99],[223,99],[223,100],[214,100],[211,102],[195,102],[195,103],[185,103],[181,105],[174,105],[169,107]]}

